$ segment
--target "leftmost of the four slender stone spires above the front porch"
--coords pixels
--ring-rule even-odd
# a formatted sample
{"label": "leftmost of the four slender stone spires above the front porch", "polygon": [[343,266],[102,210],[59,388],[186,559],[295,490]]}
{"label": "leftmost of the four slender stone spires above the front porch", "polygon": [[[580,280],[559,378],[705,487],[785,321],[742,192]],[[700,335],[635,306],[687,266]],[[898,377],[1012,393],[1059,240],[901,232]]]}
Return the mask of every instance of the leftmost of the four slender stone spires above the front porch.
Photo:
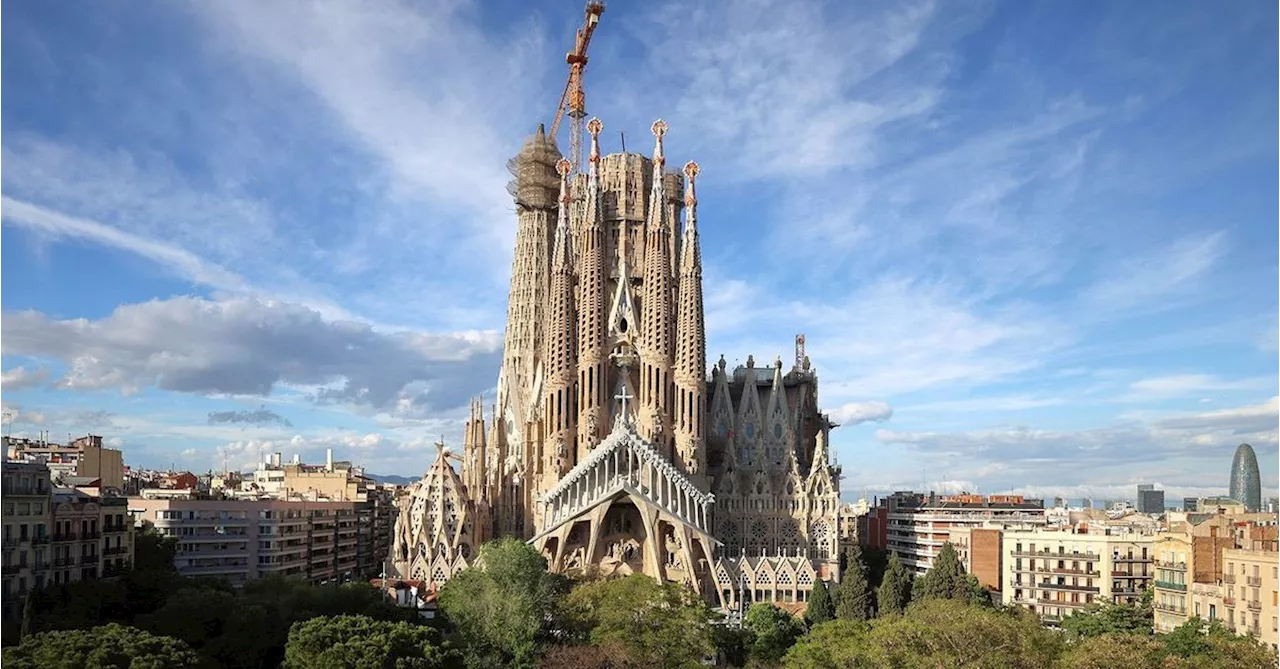
{"label": "leftmost of the four slender stone spires above the front porch", "polygon": [[548,294],[547,336],[543,359],[547,365],[547,394],[543,446],[544,486],[554,485],[572,467],[573,380],[577,372],[577,338],[573,333],[573,251],[570,247],[570,161],[557,164],[561,175],[559,220],[552,252],[550,292]]}

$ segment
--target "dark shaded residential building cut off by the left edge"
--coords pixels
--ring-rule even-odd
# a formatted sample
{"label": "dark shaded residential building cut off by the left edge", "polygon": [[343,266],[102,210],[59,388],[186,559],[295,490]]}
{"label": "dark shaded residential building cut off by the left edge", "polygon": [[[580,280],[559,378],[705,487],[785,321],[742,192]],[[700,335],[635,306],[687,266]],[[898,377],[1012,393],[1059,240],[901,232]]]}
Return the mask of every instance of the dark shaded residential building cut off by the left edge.
{"label": "dark shaded residential building cut off by the left edge", "polygon": [[49,469],[0,458],[0,626],[17,624],[49,574]]}

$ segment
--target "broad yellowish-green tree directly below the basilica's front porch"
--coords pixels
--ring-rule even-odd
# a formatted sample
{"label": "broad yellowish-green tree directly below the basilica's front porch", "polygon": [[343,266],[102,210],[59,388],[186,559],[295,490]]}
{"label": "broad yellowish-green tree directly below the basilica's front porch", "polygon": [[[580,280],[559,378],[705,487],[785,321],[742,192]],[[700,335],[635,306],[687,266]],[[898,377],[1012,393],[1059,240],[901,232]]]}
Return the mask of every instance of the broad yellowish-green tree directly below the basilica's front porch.
{"label": "broad yellowish-green tree directly below the basilica's front porch", "polygon": [[564,601],[566,627],[652,668],[699,666],[716,651],[713,614],[680,583],[645,574],[586,583]]}

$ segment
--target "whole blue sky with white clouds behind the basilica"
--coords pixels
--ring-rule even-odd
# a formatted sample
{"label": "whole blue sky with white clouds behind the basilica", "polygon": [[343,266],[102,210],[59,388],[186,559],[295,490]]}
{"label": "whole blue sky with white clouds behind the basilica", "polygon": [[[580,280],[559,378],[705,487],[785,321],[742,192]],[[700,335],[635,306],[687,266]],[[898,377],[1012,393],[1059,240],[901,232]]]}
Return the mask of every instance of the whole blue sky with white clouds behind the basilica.
{"label": "whole blue sky with white clouds behind the basilica", "polygon": [[[138,466],[417,475],[497,380],[506,159],[581,3],[0,9],[0,404]],[[845,490],[1280,492],[1280,6],[614,1],[709,358],[808,335]]]}

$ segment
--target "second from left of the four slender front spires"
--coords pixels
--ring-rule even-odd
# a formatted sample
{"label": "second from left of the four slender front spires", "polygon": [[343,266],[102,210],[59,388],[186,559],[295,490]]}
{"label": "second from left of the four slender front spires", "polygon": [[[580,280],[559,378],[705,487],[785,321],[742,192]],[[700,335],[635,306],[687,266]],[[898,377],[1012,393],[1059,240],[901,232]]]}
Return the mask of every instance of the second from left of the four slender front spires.
{"label": "second from left of the four slender front spires", "polygon": [[586,175],[586,220],[582,221],[577,304],[577,405],[581,423],[577,459],[581,460],[609,430],[605,420],[604,350],[604,202],[600,197],[600,132],[604,124],[591,119],[591,153]]}

